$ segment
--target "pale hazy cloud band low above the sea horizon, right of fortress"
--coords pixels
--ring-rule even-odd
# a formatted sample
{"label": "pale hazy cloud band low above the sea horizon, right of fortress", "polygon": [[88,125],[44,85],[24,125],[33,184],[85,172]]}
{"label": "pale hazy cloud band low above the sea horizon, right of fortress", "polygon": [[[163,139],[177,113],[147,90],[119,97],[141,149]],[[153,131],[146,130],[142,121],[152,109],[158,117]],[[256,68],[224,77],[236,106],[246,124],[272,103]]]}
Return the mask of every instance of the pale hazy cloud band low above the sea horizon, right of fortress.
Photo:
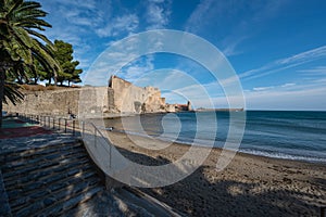
{"label": "pale hazy cloud band low above the sea horizon, right of fortress", "polygon": [[[226,97],[218,90],[216,84],[202,86],[210,93],[200,97],[196,91],[197,85],[181,88],[192,95],[197,107],[242,107],[242,98],[239,94]],[[213,92],[213,90],[218,90]],[[247,110],[326,110],[326,86],[325,84],[293,84],[288,82],[279,86],[256,87],[243,91]],[[213,102],[213,106],[212,103]]]}

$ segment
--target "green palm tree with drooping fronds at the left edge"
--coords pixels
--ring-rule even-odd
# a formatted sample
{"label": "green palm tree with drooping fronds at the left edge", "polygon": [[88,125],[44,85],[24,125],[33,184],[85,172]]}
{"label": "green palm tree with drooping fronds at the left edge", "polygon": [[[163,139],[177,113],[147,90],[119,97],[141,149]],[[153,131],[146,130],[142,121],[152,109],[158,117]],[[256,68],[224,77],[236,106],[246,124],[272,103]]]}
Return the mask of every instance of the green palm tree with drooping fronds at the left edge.
{"label": "green palm tree with drooping fronds at the left edge", "polygon": [[10,68],[22,62],[32,66],[33,59],[54,73],[60,68],[53,58],[51,41],[40,34],[45,27],[51,27],[42,20],[46,15],[38,2],[0,0],[0,127],[5,73]]}

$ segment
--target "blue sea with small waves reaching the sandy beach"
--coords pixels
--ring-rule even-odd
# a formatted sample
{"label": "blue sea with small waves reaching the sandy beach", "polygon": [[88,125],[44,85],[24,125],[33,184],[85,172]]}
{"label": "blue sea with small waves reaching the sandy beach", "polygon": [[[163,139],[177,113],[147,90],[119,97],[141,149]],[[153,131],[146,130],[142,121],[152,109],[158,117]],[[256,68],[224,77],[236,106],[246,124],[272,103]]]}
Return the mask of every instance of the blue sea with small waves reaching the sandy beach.
{"label": "blue sea with small waves reaching the sandy beach", "polygon": [[[326,163],[326,112],[246,111],[180,112],[105,119],[116,131],[189,145],[225,148],[229,130],[243,136],[237,151],[285,159]],[[233,118],[230,118],[233,117]],[[233,127],[230,123],[233,119]],[[238,126],[237,126],[238,125]],[[243,127],[243,128],[242,128]],[[229,135],[229,136],[228,136]],[[239,133],[236,133],[239,137]]]}

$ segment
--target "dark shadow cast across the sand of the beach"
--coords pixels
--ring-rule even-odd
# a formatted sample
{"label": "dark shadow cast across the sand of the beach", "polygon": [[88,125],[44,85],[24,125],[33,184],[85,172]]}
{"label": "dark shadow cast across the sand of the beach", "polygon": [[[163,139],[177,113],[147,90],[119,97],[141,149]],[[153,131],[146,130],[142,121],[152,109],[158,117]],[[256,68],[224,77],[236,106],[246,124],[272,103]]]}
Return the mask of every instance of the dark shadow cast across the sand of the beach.
{"label": "dark shadow cast across the sand of the beach", "polygon": [[[153,158],[126,149],[117,150],[130,161],[146,165],[171,163],[161,157]],[[186,179],[172,186],[140,189],[142,192],[166,203],[186,216],[319,216],[321,207],[311,199],[316,195],[277,188],[265,188],[261,182],[234,181],[223,178],[210,181],[200,166]],[[325,179],[318,180],[325,184]],[[279,190],[281,189],[281,190]]]}

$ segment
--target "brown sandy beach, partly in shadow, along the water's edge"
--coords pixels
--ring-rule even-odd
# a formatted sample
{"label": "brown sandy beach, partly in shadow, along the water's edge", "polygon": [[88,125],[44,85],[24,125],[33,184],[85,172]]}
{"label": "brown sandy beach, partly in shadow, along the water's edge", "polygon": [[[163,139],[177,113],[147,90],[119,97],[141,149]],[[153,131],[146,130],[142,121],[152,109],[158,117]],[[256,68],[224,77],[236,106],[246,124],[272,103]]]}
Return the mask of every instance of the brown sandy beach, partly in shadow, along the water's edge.
{"label": "brown sandy beach, partly in shadow, along the water's edge", "polygon": [[[129,159],[145,165],[174,162],[189,146],[133,136],[137,143],[168,145],[149,150],[127,135],[110,139]],[[237,153],[216,171],[220,149],[186,179],[156,189],[140,189],[188,216],[319,216],[326,206],[326,165]]]}

